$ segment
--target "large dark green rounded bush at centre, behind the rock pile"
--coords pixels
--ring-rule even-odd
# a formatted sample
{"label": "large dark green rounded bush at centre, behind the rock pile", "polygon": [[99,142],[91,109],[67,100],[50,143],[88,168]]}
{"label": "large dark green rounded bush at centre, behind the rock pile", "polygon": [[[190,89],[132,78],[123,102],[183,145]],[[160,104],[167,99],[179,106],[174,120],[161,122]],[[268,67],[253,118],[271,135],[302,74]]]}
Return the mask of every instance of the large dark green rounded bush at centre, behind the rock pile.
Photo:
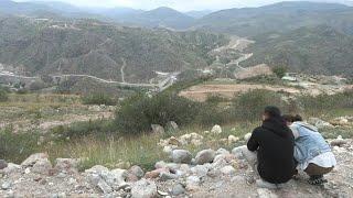
{"label": "large dark green rounded bush at centre, behind the rock pile", "polygon": [[194,121],[200,103],[170,92],[148,97],[139,95],[127,99],[116,112],[115,123],[126,134],[150,131],[151,124],[165,125],[175,121],[185,125]]}

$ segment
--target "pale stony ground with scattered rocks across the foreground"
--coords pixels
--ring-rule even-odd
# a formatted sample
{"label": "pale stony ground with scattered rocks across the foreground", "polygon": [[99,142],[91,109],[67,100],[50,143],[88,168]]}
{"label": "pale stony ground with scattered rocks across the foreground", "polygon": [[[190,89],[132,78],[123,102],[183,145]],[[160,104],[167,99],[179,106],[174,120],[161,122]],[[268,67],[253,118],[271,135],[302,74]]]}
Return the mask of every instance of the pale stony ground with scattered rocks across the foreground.
{"label": "pale stony ground with scattered rocks across the foreground", "polygon": [[[214,127],[210,133],[222,133],[222,129]],[[228,141],[238,139],[231,135]],[[0,197],[353,197],[353,140],[329,142],[338,166],[327,175],[324,186],[309,185],[300,173],[280,189],[259,188],[237,147],[208,148],[194,156],[181,150],[182,144],[202,143],[202,135],[191,133],[161,140],[170,162],[157,162],[156,169],[147,173],[139,166],[108,169],[100,165],[79,173],[79,160],[57,158],[52,165],[44,153],[20,165],[0,161]]]}

